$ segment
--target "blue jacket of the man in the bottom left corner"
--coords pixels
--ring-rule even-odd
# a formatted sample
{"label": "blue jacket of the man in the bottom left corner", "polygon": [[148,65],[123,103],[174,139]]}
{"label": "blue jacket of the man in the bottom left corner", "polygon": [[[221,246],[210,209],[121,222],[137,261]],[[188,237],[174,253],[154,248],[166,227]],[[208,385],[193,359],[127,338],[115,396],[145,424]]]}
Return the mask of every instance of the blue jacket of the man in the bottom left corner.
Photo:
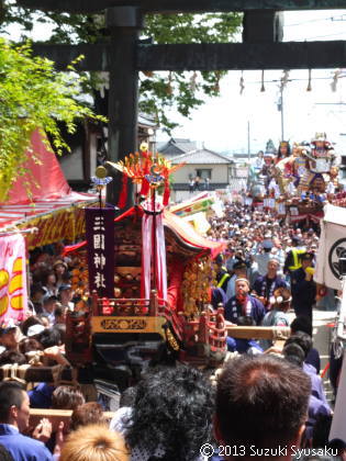
{"label": "blue jacket of the man in the bottom left corner", "polygon": [[11,425],[0,424],[0,443],[14,461],[53,461],[49,450],[38,440],[23,436]]}

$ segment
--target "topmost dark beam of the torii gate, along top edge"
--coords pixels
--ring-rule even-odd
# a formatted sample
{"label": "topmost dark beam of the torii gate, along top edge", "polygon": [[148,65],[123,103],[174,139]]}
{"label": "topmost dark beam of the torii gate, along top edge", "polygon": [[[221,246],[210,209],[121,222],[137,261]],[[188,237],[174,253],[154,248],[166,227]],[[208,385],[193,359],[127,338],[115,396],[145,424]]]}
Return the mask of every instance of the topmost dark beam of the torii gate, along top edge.
{"label": "topmost dark beam of the torii gate, along top edge", "polygon": [[205,12],[247,10],[332,10],[346,0],[16,0],[24,8],[70,13],[93,13],[112,7],[139,7],[145,12]]}

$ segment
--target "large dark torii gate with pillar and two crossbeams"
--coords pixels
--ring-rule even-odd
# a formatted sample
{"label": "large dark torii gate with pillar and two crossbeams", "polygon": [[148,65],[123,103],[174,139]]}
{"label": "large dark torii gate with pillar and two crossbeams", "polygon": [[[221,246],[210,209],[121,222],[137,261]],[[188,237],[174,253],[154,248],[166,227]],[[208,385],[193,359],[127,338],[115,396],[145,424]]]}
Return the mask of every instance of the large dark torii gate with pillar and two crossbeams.
{"label": "large dark torii gate with pillar and two crossbeams", "polygon": [[[346,0],[18,0],[21,7],[69,13],[105,10],[108,44],[34,45],[58,69],[80,54],[80,70],[110,72],[109,158],[136,149],[139,70],[254,70],[346,67],[346,41],[281,42],[281,12],[346,8]],[[244,12],[243,43],[150,45],[138,41],[146,13]],[[129,185],[131,187],[131,185]],[[118,202],[118,188],[108,200]],[[130,192],[130,191],[129,191]],[[132,194],[129,193],[129,203]]]}

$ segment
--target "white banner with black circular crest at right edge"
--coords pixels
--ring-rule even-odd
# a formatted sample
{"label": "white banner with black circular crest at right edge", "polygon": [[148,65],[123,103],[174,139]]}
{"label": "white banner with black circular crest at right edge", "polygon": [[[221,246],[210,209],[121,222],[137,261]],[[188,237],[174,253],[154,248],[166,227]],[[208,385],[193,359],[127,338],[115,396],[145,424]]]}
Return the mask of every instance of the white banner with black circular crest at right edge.
{"label": "white banner with black circular crest at right edge", "polygon": [[314,281],[341,290],[338,260],[346,257],[346,209],[327,204],[324,212]]}

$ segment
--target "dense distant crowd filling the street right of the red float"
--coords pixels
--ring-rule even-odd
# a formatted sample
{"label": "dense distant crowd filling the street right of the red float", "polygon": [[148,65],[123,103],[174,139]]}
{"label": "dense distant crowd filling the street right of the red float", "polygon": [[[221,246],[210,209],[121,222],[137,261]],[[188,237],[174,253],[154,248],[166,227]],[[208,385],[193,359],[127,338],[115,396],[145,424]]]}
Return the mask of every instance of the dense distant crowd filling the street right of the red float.
{"label": "dense distant crowd filling the street right of the red float", "polygon": [[290,290],[297,315],[312,318],[315,305],[335,311],[336,293],[313,281],[319,244],[314,224],[294,227],[284,220],[278,221],[270,211],[235,202],[225,205],[224,217],[213,218],[209,235],[227,243],[227,249],[216,259],[217,288],[223,289],[224,303],[235,295],[236,279],[244,277],[250,294],[257,299],[252,303],[259,301],[265,311],[279,288]]}

